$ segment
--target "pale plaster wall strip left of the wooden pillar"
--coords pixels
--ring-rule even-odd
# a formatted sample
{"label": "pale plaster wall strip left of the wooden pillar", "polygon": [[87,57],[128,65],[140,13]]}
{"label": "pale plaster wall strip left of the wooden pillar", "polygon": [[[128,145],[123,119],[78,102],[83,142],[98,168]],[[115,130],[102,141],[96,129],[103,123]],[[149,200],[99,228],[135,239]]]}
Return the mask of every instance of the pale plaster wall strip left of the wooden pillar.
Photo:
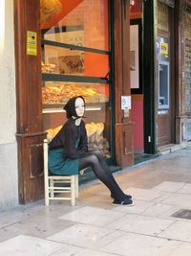
{"label": "pale plaster wall strip left of the wooden pillar", "polygon": [[18,204],[13,1],[0,11],[0,209]]}

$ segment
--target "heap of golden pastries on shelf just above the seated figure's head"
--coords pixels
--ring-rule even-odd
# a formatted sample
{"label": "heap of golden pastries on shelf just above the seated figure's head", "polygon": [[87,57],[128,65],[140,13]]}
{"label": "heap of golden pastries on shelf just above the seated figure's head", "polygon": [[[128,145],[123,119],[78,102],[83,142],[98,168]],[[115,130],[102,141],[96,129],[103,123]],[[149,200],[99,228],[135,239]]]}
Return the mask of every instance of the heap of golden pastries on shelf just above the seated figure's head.
{"label": "heap of golden pastries on shelf just above the seated figure's head", "polygon": [[75,83],[56,83],[53,86],[42,87],[43,104],[62,104],[68,102],[74,96],[81,95],[86,103],[106,103],[108,97],[100,93],[96,86],[75,84]]}

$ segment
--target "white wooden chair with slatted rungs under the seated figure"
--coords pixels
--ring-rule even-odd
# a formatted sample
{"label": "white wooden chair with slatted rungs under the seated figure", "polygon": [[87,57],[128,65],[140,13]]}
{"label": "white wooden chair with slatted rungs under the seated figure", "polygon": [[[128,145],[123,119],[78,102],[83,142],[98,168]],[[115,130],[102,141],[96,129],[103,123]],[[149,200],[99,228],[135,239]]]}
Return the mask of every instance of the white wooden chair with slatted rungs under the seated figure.
{"label": "white wooden chair with slatted rungs under the seated figure", "polygon": [[49,175],[47,139],[44,140],[43,149],[45,204],[49,205],[50,200],[71,200],[74,206],[75,198],[78,198],[78,175]]}

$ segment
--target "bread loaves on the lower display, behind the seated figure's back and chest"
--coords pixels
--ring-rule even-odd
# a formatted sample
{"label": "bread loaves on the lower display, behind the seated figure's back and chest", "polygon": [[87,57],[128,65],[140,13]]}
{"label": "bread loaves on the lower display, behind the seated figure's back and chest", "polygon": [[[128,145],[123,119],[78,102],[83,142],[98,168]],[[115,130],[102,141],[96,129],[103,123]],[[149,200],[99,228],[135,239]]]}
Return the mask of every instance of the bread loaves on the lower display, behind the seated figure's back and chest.
{"label": "bread loaves on the lower display, behind the seated figure's back and chest", "polygon": [[[62,126],[47,129],[47,139],[51,141],[60,128],[62,128]],[[111,157],[109,142],[103,135],[104,124],[88,123],[86,124],[86,130],[88,136],[88,149],[90,151],[99,150],[102,152],[104,157]]]}

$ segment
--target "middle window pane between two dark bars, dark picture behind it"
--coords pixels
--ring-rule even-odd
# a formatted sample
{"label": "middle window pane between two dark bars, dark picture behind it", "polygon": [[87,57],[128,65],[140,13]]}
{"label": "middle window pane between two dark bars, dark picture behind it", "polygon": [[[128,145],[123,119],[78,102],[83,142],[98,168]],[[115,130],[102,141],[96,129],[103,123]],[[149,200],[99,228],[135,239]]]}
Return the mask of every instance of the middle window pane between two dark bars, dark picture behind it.
{"label": "middle window pane between two dark bars, dark picture behind it", "polygon": [[42,49],[42,73],[105,78],[108,72],[108,55],[50,45]]}

